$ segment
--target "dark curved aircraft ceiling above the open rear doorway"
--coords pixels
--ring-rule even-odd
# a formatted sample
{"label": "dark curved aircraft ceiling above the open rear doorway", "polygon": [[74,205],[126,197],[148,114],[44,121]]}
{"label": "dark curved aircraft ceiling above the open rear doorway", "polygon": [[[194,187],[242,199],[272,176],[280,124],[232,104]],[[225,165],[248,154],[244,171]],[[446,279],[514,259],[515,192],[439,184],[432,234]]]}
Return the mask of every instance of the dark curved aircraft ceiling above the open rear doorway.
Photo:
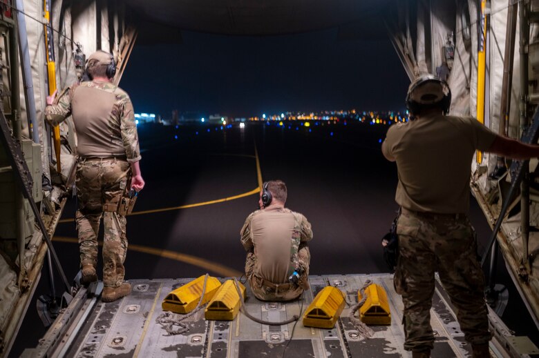
{"label": "dark curved aircraft ceiling above the open rear doorway", "polygon": [[[144,43],[164,26],[229,35],[278,35],[343,27],[343,34],[386,37],[371,26],[395,0],[122,0],[138,14]],[[358,31],[360,30],[360,31]],[[149,35],[149,36],[148,36]],[[163,33],[160,33],[162,37]],[[168,37],[165,41],[175,41]]]}

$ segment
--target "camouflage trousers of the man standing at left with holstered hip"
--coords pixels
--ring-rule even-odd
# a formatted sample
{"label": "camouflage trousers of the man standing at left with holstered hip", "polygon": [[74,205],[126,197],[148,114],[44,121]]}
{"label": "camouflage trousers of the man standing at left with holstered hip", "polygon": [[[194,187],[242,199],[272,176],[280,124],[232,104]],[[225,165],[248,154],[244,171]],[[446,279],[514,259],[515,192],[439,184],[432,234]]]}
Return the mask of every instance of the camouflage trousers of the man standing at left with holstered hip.
{"label": "camouflage trousers of the man standing at left with holstered hip", "polygon": [[103,284],[124,281],[127,252],[126,217],[103,210],[103,204],[121,196],[131,181],[131,166],[118,159],[82,159],[77,163],[77,231],[81,266],[97,266],[97,235],[103,217]]}

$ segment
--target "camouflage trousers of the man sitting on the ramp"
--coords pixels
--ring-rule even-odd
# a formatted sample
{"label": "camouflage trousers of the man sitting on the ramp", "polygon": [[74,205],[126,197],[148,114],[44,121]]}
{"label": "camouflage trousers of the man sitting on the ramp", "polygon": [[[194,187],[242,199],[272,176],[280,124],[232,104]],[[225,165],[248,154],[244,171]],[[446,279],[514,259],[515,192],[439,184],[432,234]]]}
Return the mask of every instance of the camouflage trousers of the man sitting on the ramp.
{"label": "camouflage trousers of the man sitting on the ramp", "polygon": [[[299,266],[303,270],[303,276],[301,280],[308,280],[309,277],[309,263],[310,263],[310,251],[308,246],[303,245],[298,251]],[[263,277],[256,275],[256,256],[254,252],[247,253],[247,259],[245,260],[245,275],[251,291],[257,299],[262,301],[291,301],[301,296],[303,288],[300,285],[286,283],[286,284],[274,284],[269,282]]]}

